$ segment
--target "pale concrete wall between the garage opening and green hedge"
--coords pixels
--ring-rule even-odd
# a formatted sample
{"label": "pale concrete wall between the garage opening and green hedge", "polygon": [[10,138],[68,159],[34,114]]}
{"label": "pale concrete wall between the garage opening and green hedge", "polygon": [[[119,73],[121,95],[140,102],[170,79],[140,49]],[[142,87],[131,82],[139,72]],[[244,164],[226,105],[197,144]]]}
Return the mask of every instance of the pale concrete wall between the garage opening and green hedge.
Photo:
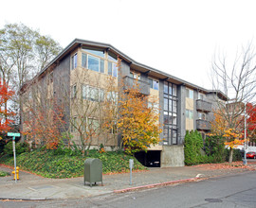
{"label": "pale concrete wall between the garage opening and green hedge", "polygon": [[161,167],[184,166],[184,147],[163,146],[161,151]]}

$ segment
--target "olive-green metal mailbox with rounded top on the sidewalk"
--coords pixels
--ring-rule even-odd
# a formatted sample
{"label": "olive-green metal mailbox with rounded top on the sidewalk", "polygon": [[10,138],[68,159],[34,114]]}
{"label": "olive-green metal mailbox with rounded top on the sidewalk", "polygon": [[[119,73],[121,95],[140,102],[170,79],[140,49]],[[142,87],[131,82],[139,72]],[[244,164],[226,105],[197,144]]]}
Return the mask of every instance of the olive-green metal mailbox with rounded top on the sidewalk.
{"label": "olive-green metal mailbox with rounded top on the sidewalk", "polygon": [[90,186],[92,187],[92,183],[102,182],[102,163],[101,160],[96,158],[88,158],[84,162],[84,172],[83,172],[83,182],[90,182]]}

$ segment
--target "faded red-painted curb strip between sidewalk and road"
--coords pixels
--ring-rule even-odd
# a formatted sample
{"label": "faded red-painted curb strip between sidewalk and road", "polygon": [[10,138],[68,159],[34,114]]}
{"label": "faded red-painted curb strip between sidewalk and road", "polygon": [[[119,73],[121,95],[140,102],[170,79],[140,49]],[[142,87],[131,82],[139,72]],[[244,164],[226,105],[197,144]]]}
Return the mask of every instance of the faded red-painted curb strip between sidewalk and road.
{"label": "faded red-painted curb strip between sidewalk and road", "polygon": [[[207,178],[205,178],[205,179],[207,179]],[[158,187],[158,186],[170,185],[170,184],[175,184],[175,183],[179,183],[179,182],[196,182],[196,181],[199,181],[199,180],[200,181],[204,180],[204,178],[195,177],[195,178],[191,178],[191,179],[182,179],[182,180],[171,181],[171,182],[160,182],[160,183],[154,183],[154,184],[149,184],[149,185],[141,185],[141,186],[132,187],[132,188],[114,190],[113,192],[118,194],[118,193],[130,192],[130,191],[137,191],[137,190],[140,190],[140,189],[154,188],[154,187]]]}

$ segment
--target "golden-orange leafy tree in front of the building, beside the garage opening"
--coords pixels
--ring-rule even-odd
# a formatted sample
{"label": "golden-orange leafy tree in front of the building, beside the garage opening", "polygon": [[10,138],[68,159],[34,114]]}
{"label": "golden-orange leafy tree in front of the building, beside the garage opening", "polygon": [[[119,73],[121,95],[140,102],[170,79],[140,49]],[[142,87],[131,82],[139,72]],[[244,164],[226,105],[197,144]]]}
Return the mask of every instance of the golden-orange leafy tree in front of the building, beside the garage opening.
{"label": "golden-orange leafy tree in front of the building, beside the garage opening", "polygon": [[158,144],[159,115],[154,107],[148,107],[148,97],[140,94],[138,83],[127,87],[119,96],[118,130],[125,151],[134,154]]}

